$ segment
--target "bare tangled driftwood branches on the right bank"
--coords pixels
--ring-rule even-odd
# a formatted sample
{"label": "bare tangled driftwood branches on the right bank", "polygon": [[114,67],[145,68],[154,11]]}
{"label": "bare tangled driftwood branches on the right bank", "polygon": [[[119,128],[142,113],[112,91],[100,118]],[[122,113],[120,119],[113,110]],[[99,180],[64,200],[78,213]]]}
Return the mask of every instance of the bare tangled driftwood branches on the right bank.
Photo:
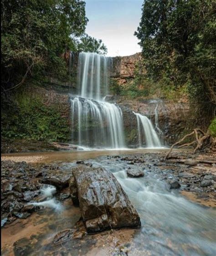
{"label": "bare tangled driftwood branches on the right bank", "polygon": [[[188,137],[194,137],[195,139],[193,139],[193,141],[188,142],[188,143],[184,143],[182,145],[179,145],[180,143],[183,143],[185,141],[186,138]],[[207,145],[206,145],[206,141],[208,141],[208,139],[210,139],[211,135],[209,132],[204,133],[201,129],[194,129],[191,133],[186,134],[182,139],[180,139],[179,141],[175,142],[174,144],[172,144],[170,150],[168,151],[168,153],[165,156],[166,160],[168,158],[168,156],[170,155],[171,151],[173,150],[173,148],[176,145],[179,145],[178,148],[182,148],[182,147],[189,147],[189,146],[195,146],[195,149],[193,151],[193,153],[195,153],[198,149],[204,149]]]}

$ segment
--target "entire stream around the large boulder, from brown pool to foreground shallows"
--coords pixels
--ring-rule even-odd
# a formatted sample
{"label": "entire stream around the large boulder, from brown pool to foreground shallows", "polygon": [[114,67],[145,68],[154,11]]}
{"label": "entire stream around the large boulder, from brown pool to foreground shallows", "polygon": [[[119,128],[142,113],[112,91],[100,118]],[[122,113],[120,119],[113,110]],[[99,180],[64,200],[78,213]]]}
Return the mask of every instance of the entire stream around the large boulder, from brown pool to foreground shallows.
{"label": "entire stream around the large boulder, from brown pool to foreground shallows", "polygon": [[[15,255],[114,255],[119,243],[129,247],[129,256],[216,255],[215,208],[193,203],[178,191],[170,190],[161,170],[151,162],[145,163],[144,177],[127,177],[128,168],[143,168],[139,164],[130,165],[118,158],[118,154],[128,152],[132,153],[131,150],[112,152],[113,154],[111,151],[73,152],[70,153],[71,158],[69,152],[42,153],[41,155],[48,154],[49,157],[41,161],[61,162],[62,168],[69,172],[77,165],[76,160],[82,157],[82,160],[87,159],[85,162],[91,163],[93,167],[111,171],[138,211],[141,229],[86,235],[82,240],[72,240],[62,247],[60,245],[53,248],[51,239],[57,230],[72,228],[81,216],[79,208],[72,206],[69,198],[62,203],[62,207],[59,204],[57,208],[48,206],[33,213],[28,219],[17,219],[12,224],[6,224],[2,228],[2,255],[13,255],[12,250]],[[117,156],[114,158],[108,155]],[[55,195],[52,199],[55,202]],[[13,249],[14,241],[17,242]]]}

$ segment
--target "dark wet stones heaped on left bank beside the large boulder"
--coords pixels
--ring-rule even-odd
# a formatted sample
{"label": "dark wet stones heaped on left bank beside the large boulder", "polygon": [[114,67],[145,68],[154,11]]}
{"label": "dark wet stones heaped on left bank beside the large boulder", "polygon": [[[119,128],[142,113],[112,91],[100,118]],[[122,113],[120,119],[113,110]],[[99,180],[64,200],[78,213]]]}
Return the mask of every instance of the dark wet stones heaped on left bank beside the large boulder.
{"label": "dark wet stones heaped on left bank beside the large boulder", "polygon": [[[1,162],[1,226],[15,219],[25,219],[39,210],[32,202],[43,202],[51,195],[42,196],[44,184],[54,185],[58,193],[68,187],[70,175],[61,165],[36,165],[5,160]],[[54,173],[53,173],[54,171]],[[58,195],[63,201],[68,192]]]}

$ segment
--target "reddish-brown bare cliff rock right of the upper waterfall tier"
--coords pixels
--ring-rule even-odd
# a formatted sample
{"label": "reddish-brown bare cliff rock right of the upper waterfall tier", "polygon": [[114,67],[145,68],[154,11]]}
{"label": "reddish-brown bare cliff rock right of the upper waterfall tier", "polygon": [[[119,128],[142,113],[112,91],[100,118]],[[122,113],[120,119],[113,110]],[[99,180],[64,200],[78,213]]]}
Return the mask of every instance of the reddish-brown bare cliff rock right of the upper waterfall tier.
{"label": "reddish-brown bare cliff rock right of the upper waterfall tier", "polygon": [[141,53],[135,53],[130,56],[114,57],[110,77],[116,80],[119,85],[126,84],[129,80],[134,79],[135,72],[140,75],[144,73],[141,60]]}

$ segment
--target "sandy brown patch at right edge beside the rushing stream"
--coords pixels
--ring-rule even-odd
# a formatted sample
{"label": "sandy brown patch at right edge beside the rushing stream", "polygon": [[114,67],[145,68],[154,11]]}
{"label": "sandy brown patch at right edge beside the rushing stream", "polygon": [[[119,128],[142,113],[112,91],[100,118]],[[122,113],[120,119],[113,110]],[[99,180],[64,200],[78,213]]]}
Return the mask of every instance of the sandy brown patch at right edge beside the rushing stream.
{"label": "sandy brown patch at right edge beside the rushing stream", "polygon": [[216,199],[213,197],[200,198],[199,194],[196,194],[195,192],[189,192],[189,191],[181,191],[181,194],[184,197],[187,197],[187,199],[189,199],[194,203],[199,203],[201,205],[208,206],[208,207],[216,207]]}

